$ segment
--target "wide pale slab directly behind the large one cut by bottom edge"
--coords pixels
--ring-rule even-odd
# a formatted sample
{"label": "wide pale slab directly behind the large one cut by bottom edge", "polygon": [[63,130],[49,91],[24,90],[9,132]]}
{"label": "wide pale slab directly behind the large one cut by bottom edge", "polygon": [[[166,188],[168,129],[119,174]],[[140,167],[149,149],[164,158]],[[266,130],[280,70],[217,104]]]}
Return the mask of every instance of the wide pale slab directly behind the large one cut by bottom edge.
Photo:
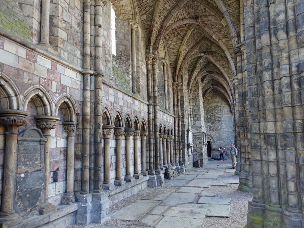
{"label": "wide pale slab directly behind the large one cut by bottom edge", "polygon": [[171,207],[168,209],[168,211],[164,213],[164,216],[204,219],[206,212],[207,210],[202,210],[202,209]]}

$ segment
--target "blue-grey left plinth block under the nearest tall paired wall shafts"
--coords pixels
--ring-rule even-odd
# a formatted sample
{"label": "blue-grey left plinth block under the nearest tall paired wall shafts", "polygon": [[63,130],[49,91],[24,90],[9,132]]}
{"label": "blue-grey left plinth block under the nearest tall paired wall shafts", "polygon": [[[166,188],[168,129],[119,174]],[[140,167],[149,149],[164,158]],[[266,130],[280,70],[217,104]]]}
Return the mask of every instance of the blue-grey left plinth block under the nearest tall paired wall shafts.
{"label": "blue-grey left plinth block under the nearest tall paired wall shafts", "polygon": [[76,199],[79,202],[78,210],[76,212],[76,223],[88,224],[92,222],[92,195],[91,194],[79,194],[76,195]]}

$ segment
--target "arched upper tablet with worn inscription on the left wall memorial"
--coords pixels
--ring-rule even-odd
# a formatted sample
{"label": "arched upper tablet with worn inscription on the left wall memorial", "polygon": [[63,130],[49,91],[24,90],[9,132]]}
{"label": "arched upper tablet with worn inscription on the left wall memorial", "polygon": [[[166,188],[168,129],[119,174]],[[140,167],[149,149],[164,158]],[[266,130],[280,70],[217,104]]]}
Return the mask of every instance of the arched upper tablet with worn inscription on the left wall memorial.
{"label": "arched upper tablet with worn inscription on the left wall memorial", "polygon": [[18,169],[35,169],[44,164],[46,138],[36,127],[24,130],[18,137]]}

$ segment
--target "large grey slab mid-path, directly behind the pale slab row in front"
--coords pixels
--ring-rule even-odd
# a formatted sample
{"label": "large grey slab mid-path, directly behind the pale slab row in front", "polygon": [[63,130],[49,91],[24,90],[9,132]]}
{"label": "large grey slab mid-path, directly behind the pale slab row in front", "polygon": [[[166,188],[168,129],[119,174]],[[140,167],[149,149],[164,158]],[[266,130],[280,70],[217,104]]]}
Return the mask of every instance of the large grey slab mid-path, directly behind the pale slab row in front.
{"label": "large grey slab mid-path, directly behind the pale slab row in front", "polygon": [[194,203],[197,199],[197,194],[194,193],[180,193],[173,192],[166,199],[164,199],[159,205],[161,206],[175,206],[182,203]]}

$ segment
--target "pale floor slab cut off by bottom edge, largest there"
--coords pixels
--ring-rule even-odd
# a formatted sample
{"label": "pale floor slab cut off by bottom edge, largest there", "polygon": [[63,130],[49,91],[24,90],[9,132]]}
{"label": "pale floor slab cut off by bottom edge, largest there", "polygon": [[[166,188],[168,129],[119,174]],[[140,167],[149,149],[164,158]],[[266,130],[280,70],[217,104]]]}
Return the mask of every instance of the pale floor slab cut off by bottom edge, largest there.
{"label": "pale floor slab cut off by bottom edge, largest there", "polygon": [[164,218],[157,224],[156,228],[200,228],[202,226],[203,219],[190,219],[180,218],[172,216],[164,216]]}

